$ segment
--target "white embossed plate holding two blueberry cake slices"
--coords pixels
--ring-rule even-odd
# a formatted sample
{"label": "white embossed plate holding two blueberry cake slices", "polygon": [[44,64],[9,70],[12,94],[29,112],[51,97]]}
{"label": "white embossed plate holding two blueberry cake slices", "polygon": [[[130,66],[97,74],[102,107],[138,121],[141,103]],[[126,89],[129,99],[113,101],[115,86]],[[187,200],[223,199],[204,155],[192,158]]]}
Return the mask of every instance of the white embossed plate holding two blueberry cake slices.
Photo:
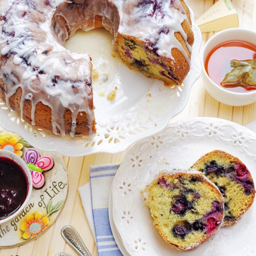
{"label": "white embossed plate holding two blueberry cake slices", "polygon": [[128,152],[113,182],[113,219],[130,255],[256,255],[256,203],[235,226],[220,229],[213,240],[193,251],[182,252],[162,239],[143,200],[141,191],[159,171],[189,168],[214,149],[240,158],[256,180],[256,134],[222,119],[190,118],[170,123],[161,133],[138,142]]}

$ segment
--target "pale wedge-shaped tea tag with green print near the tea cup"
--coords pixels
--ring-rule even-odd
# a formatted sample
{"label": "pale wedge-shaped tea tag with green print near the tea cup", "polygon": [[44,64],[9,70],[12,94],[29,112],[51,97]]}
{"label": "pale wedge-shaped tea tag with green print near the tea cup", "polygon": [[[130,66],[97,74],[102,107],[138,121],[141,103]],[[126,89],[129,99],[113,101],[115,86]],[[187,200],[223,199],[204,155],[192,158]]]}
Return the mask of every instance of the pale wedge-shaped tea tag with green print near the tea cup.
{"label": "pale wedge-shaped tea tag with green print near the tea cup", "polygon": [[202,33],[239,27],[238,15],[231,0],[219,0],[195,21]]}

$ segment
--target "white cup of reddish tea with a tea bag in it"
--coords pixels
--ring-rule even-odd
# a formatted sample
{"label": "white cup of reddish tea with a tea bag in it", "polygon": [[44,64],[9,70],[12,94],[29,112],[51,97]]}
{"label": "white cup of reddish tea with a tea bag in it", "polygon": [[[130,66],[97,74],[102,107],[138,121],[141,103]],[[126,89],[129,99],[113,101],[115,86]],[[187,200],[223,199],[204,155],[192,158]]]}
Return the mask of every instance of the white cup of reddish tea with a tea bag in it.
{"label": "white cup of reddish tea with a tea bag in it", "polygon": [[256,102],[256,32],[231,28],[215,34],[203,48],[202,67],[205,88],[217,101]]}

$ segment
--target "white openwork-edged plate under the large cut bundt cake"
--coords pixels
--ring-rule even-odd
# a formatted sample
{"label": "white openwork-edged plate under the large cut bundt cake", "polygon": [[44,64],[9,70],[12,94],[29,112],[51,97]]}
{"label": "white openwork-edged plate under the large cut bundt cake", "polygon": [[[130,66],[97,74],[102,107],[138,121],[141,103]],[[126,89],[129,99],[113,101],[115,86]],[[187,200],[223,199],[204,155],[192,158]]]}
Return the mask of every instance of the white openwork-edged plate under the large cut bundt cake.
{"label": "white openwork-edged plate under the large cut bundt cake", "polygon": [[[192,18],[194,20],[193,13]],[[3,102],[0,102],[1,126],[18,133],[36,148],[56,150],[62,155],[121,152],[134,142],[161,131],[168,121],[186,106],[190,89],[202,70],[199,61],[202,35],[195,24],[193,31],[195,44],[191,70],[182,87],[176,88],[167,88],[162,81],[147,78],[125,67],[113,50],[111,35],[104,29],[87,32],[84,35],[86,39],[83,32],[78,32],[67,42],[67,48],[72,51],[88,52],[99,74],[93,84],[97,122],[95,136],[61,137],[39,130],[22,121],[16,112],[7,108]],[[109,101],[108,95],[115,86],[115,100]]]}

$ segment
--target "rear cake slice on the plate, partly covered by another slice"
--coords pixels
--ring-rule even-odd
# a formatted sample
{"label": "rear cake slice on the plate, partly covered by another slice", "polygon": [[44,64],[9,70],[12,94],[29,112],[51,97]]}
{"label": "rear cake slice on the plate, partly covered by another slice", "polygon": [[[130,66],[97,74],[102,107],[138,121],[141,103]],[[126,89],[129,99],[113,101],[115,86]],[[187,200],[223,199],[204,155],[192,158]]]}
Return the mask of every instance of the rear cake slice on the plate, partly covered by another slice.
{"label": "rear cake slice on the plate, partly covered by another slice", "polygon": [[203,172],[220,189],[225,200],[224,226],[234,225],[255,197],[249,170],[238,158],[221,150],[203,155],[193,168]]}

